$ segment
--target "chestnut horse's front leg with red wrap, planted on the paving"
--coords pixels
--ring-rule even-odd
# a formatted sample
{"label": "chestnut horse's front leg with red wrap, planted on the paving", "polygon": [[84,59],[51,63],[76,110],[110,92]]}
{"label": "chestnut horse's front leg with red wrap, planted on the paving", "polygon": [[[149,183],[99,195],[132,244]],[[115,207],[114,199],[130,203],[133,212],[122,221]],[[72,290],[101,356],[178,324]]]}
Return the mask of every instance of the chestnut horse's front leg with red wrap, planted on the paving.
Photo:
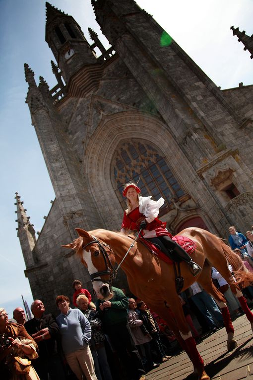
{"label": "chestnut horse's front leg with red wrap, planted on the paving", "polygon": [[[175,291],[175,298],[170,297],[170,309],[163,302],[156,300],[155,303],[149,303],[151,308],[162,317],[172,329],[174,335],[178,339],[182,348],[186,351],[193,364],[194,373],[197,374],[198,380],[210,380],[209,376],[204,371],[204,362],[199,355],[196,347],[196,342],[191,336],[189,326],[187,324],[182,305]],[[168,301],[169,302],[169,301]]]}

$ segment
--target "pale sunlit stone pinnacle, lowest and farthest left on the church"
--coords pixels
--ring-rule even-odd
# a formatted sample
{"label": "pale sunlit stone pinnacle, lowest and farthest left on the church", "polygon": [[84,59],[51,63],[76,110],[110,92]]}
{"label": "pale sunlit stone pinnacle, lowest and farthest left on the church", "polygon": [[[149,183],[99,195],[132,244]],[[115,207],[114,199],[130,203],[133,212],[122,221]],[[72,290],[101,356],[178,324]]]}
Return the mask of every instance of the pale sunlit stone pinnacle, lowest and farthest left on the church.
{"label": "pale sunlit stone pinnacle, lowest and farthest left on the church", "polygon": [[26,268],[28,268],[34,264],[32,250],[36,243],[35,230],[29,221],[30,217],[26,215],[26,209],[24,209],[23,202],[20,201],[18,193],[15,194],[15,199],[16,202],[14,205],[17,206],[17,210],[15,211],[17,214],[16,222],[18,226],[16,228],[17,236],[20,241]]}

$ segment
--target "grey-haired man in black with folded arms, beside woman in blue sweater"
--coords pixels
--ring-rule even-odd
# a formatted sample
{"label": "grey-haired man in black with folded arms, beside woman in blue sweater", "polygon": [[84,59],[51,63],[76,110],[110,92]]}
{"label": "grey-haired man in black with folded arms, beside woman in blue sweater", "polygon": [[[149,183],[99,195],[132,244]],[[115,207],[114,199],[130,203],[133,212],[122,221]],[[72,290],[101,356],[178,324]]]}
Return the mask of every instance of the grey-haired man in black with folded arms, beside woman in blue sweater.
{"label": "grey-haired man in black with folded arms, beside woman in blue sweater", "polygon": [[33,366],[40,380],[64,380],[63,364],[58,354],[60,332],[52,314],[45,314],[42,301],[35,300],[31,304],[34,318],[25,323],[25,328],[39,348],[39,358],[33,361]]}

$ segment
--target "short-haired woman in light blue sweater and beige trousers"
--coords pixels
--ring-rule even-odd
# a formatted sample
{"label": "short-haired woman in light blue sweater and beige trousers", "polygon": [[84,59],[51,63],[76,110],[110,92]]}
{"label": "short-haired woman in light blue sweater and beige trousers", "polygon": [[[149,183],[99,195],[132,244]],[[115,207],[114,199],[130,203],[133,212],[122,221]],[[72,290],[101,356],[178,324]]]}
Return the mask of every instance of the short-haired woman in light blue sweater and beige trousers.
{"label": "short-haired woman in light blue sweater and beige trousers", "polygon": [[88,344],[91,339],[90,322],[79,309],[69,307],[68,297],[58,296],[56,304],[61,311],[56,321],[69,367],[78,380],[82,380],[83,375],[87,380],[97,380]]}

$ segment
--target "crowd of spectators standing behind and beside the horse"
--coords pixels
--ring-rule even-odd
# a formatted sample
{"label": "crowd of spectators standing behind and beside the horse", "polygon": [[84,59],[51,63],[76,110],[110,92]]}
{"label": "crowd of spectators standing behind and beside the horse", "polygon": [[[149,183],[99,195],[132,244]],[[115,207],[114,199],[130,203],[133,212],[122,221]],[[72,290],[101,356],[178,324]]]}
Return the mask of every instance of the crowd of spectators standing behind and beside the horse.
{"label": "crowd of spectators standing behind and beside the horse", "polygon": [[[231,226],[229,232],[231,248],[253,271],[252,230],[244,236]],[[232,267],[229,269],[232,272]],[[214,267],[212,278],[224,294],[232,316],[242,315],[237,298]],[[171,358],[168,354],[173,355],[179,349],[166,322],[144,301],[133,295],[127,297],[126,289],[113,287],[111,300],[97,300],[94,304],[79,280],[73,282],[72,288],[74,307],[70,307],[67,296],[58,296],[60,314],[56,318],[46,313],[40,300],[32,303],[34,317],[28,321],[22,307],[13,310],[17,323],[8,321],[6,311],[0,309],[0,371],[6,380],[145,380],[146,372],[167,362]],[[253,287],[242,291],[252,302]],[[223,326],[219,307],[197,282],[179,297],[196,340]],[[10,342],[6,346],[8,337]],[[9,360],[11,350],[26,372],[17,372],[16,365]]]}

